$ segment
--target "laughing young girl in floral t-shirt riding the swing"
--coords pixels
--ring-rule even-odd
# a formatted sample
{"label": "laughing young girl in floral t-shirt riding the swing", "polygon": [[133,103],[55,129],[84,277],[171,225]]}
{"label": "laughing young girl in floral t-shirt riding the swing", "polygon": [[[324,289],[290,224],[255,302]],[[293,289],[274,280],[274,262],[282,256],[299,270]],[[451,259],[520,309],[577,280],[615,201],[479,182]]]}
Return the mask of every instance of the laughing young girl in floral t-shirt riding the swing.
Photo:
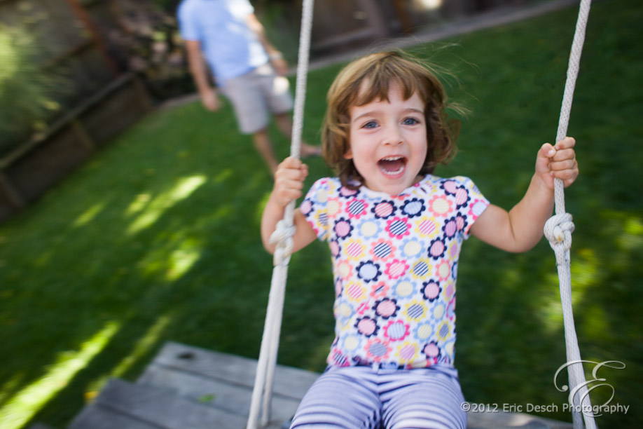
{"label": "laughing young girl in floral t-shirt riding the swing", "polygon": [[[473,234],[509,252],[540,240],[553,181],[579,174],[574,139],[538,151],[529,189],[506,212],[467,177],[434,167],[455,151],[445,93],[431,70],[397,52],[349,64],[328,95],[326,161],[338,177],[315,182],[295,212],[294,251],[329,243],[336,339],[329,367],[291,428],[465,428],[453,367],[455,280]],[[261,221],[263,244],[302,195],[307,167],[286,158]]]}

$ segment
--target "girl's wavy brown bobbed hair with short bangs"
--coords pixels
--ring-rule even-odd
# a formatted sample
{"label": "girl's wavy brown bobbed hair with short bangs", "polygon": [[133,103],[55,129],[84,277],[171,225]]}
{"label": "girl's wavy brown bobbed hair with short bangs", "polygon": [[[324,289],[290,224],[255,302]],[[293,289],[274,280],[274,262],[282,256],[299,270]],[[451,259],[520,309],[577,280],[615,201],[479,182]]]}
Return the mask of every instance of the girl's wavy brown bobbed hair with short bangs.
{"label": "girl's wavy brown bobbed hair with short bangs", "polygon": [[[364,81],[367,84],[362,88]],[[326,97],[322,149],[326,163],[336,171],[343,186],[355,188],[364,184],[353,161],[344,158],[350,149],[350,107],[363,106],[373,100],[388,101],[392,84],[402,88],[405,100],[417,93],[425,105],[428,148],[420,174],[433,172],[436,165],[448,162],[455,155],[459,121],[448,118],[445,113],[447,97],[434,69],[401,51],[374,53],[342,69]]]}

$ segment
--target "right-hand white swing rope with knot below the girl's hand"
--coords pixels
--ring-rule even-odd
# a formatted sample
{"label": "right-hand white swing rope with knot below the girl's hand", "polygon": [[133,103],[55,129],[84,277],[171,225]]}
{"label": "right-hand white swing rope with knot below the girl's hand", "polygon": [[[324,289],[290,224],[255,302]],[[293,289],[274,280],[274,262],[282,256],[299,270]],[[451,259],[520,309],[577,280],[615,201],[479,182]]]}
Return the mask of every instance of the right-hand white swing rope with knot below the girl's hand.
{"label": "right-hand white swing rope with knot below the girl's hand", "polygon": [[[569,65],[567,66],[567,81],[565,82],[565,93],[562,97],[560,118],[558,120],[558,132],[556,142],[564,139],[567,135],[569,124],[569,111],[572,109],[572,98],[576,77],[579,74],[581,52],[585,40],[585,29],[590,11],[591,0],[581,0],[579,18],[576,21],[576,32],[572,43],[572,52],[569,54]],[[569,261],[569,249],[572,247],[572,232],[574,224],[572,215],[565,212],[565,191],[562,179],[554,180],[555,214],[546,222],[544,233],[549,240],[549,245],[556,255],[558,266],[558,280],[560,282],[560,303],[562,305],[562,318],[565,327],[565,344],[567,347],[567,374],[569,377],[569,404],[573,404],[572,418],[574,429],[583,428],[583,417],[588,429],[596,429],[596,423],[592,412],[589,392],[586,386],[581,352],[576,328],[574,327],[574,313],[572,311],[572,275]],[[572,363],[573,362],[573,363]],[[567,390],[563,386],[562,391]]]}

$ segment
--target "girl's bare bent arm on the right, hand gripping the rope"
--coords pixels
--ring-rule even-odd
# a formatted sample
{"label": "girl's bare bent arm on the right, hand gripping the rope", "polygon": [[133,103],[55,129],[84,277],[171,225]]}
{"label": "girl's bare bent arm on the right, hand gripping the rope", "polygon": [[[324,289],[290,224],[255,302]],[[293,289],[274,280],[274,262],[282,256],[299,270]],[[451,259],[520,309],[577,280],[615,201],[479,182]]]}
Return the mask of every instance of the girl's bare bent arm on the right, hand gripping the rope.
{"label": "girl's bare bent arm on the right, hand gripping the rope", "polygon": [[536,157],[536,172],[525,196],[509,212],[490,205],[471,226],[471,233],[509,252],[526,252],[543,236],[543,228],[554,205],[554,178],[565,187],[579,175],[574,153],[576,142],[566,137],[555,147],[543,144]]}

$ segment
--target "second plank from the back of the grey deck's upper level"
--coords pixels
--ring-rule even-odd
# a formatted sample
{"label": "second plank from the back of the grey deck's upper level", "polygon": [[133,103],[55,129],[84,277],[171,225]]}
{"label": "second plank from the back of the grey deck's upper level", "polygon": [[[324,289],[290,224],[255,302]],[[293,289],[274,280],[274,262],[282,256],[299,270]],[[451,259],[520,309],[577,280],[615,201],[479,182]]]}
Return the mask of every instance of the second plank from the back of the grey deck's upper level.
{"label": "second plank from the back of the grey deck's upper level", "polygon": [[[252,389],[226,381],[205,378],[178,369],[162,365],[148,365],[137,383],[162,388],[193,402],[200,402],[207,407],[230,411],[247,418],[250,409]],[[284,397],[275,393],[272,396],[270,418],[275,422],[284,422],[291,418],[299,405],[300,398]]]}

